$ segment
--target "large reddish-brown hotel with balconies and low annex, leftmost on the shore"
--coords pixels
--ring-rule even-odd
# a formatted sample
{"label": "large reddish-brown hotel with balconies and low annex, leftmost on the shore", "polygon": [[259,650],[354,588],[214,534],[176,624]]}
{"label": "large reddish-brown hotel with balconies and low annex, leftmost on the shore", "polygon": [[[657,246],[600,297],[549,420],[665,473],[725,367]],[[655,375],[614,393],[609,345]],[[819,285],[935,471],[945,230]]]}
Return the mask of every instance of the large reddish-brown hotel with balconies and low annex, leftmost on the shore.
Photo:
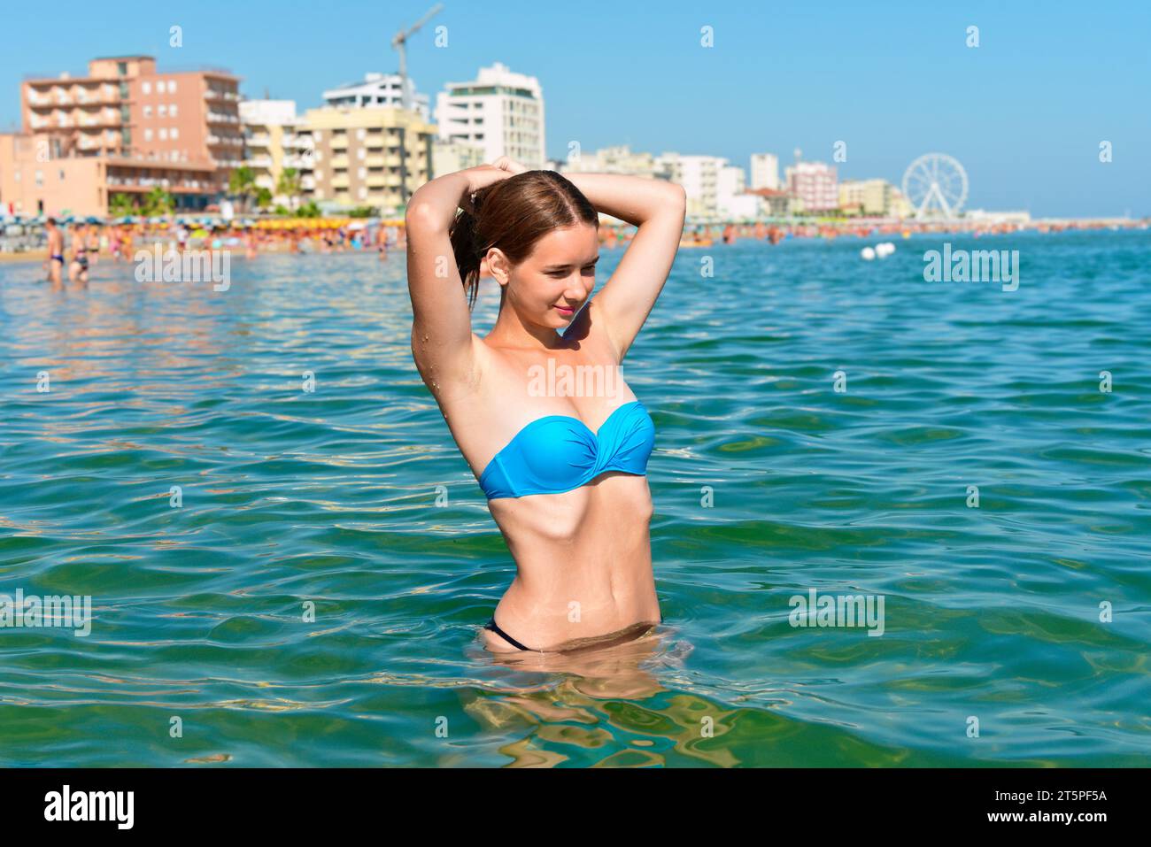
{"label": "large reddish-brown hotel with balconies and low annex, leftmost on the shore", "polygon": [[23,131],[0,144],[0,204],[17,214],[105,215],[155,186],[204,208],[241,162],[238,78],[158,71],[152,56],[93,59],[87,76],[31,77]]}

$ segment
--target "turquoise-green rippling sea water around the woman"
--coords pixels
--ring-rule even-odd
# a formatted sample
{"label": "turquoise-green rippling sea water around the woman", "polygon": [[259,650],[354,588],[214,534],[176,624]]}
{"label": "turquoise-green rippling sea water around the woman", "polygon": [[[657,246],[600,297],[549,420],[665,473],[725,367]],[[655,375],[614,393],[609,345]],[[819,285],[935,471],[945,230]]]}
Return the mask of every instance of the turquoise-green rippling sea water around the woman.
{"label": "turquoise-green rippling sea water around the woman", "polygon": [[877,241],[679,252],[624,368],[664,623],[544,670],[479,646],[513,566],[402,253],[0,265],[0,594],[93,618],[0,628],[0,764],[1148,765],[1151,232]]}

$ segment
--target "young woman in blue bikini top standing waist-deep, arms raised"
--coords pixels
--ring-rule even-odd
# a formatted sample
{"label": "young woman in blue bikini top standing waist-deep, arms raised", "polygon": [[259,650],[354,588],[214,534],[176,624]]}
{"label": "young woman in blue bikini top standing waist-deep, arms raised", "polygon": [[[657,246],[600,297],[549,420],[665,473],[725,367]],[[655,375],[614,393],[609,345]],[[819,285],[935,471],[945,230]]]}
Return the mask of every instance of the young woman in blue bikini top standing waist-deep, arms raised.
{"label": "young woman in blue bikini top standing waist-deep, arms raised", "polygon": [[[655,427],[619,366],[671,270],[685,207],[673,183],[506,158],[409,201],[412,354],[517,566],[482,631],[491,650],[607,646],[662,620],[645,475]],[[592,299],[597,211],[638,231]],[[480,338],[470,306],[483,260],[500,314]],[[596,390],[572,390],[587,374]]]}

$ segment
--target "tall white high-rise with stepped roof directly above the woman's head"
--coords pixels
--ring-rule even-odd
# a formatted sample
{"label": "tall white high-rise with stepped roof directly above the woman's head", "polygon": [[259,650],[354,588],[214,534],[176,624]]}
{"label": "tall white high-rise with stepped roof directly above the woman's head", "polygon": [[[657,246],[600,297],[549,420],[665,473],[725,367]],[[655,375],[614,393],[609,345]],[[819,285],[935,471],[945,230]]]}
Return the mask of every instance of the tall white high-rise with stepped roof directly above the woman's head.
{"label": "tall white high-rise with stepped roof directly above the woman's head", "polygon": [[508,155],[529,169],[544,167],[543,91],[534,76],[496,62],[447,89],[436,96],[440,138],[481,146],[486,162]]}

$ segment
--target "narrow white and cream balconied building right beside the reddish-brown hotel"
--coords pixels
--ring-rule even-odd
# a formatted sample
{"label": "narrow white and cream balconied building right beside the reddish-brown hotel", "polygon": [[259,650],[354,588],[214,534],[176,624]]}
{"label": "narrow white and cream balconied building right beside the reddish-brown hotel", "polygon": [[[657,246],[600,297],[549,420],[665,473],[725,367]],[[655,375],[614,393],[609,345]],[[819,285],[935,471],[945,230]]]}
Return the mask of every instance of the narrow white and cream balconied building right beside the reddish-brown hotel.
{"label": "narrow white and cream balconied building right beside the reddish-brown hotel", "polygon": [[291,197],[279,191],[280,175],[294,168],[302,183],[310,180],[312,151],[303,120],[296,116],[295,100],[242,100],[239,122],[244,132],[244,165],[256,175],[256,184],[267,189],[276,204],[290,205]]}

